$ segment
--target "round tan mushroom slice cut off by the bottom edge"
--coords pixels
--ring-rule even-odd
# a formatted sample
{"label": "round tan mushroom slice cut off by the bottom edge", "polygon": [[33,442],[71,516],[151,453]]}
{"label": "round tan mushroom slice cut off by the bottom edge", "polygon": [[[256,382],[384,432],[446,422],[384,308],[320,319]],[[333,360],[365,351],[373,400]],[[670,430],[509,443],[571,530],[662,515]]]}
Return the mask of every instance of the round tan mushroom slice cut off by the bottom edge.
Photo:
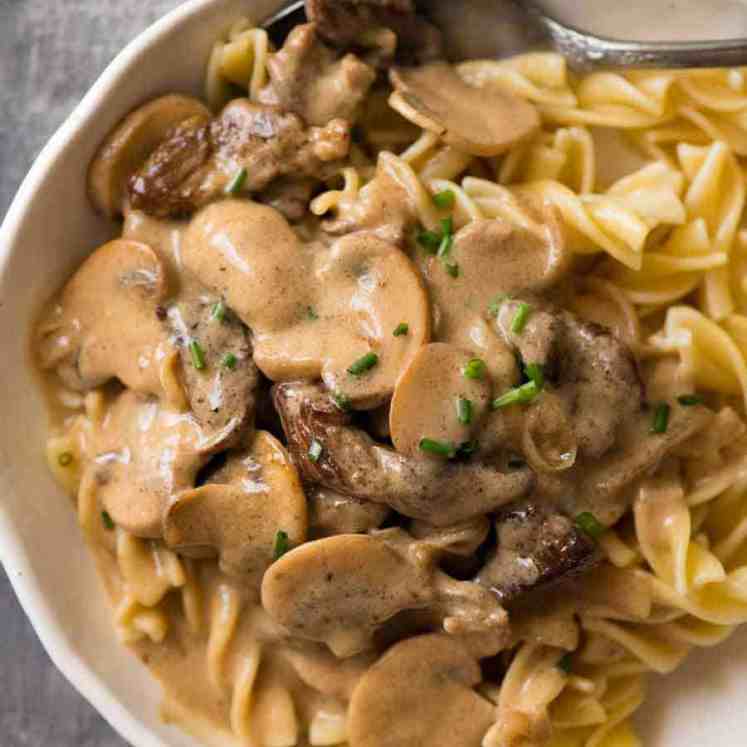
{"label": "round tan mushroom slice cut off by the bottom edge", "polygon": [[361,678],[348,712],[350,747],[480,747],[495,706],[474,691],[482,675],[445,635],[401,641]]}

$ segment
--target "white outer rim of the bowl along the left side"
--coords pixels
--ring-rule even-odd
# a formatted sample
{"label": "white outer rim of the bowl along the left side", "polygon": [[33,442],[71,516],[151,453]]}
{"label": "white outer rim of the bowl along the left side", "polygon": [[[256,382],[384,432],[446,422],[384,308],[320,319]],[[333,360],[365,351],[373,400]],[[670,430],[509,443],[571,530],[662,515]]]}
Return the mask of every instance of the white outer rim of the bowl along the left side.
{"label": "white outer rim of the bowl along the left side", "polygon": [[[49,172],[96,116],[99,107],[135,68],[147,51],[164,36],[205,12],[219,0],[186,0],[139,33],[109,63],[80,103],[47,141],[21,182],[0,225],[0,276],[8,269],[14,247],[33,203],[33,196]],[[30,554],[0,503],[0,562],[11,587],[36,635],[54,666],[123,739],[142,747],[167,747],[117,698],[107,683],[95,674],[68,643],[48,605],[32,570]]]}

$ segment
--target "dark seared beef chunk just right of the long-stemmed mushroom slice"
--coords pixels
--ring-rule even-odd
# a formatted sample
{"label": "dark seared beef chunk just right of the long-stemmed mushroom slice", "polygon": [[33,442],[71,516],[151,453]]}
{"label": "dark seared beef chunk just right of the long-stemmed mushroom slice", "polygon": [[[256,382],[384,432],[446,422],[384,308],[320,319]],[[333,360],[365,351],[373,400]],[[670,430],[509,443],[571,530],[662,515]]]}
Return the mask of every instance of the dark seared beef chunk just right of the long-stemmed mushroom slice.
{"label": "dark seared beef chunk just right of the long-stemmed mushroom slice", "polygon": [[477,576],[502,604],[546,584],[583,573],[600,555],[570,519],[537,503],[521,503],[496,521],[495,553]]}

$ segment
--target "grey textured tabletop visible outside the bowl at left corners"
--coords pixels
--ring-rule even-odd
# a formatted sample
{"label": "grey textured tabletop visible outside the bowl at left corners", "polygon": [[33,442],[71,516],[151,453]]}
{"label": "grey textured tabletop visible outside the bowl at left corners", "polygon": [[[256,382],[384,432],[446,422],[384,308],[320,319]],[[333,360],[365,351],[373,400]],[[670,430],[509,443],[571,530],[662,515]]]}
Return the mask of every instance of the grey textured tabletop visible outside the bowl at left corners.
{"label": "grey textured tabletop visible outside the bowl at left corners", "polygon": [[[0,216],[41,147],[107,63],[177,5],[0,0]],[[0,745],[124,744],[54,668],[0,571]]]}

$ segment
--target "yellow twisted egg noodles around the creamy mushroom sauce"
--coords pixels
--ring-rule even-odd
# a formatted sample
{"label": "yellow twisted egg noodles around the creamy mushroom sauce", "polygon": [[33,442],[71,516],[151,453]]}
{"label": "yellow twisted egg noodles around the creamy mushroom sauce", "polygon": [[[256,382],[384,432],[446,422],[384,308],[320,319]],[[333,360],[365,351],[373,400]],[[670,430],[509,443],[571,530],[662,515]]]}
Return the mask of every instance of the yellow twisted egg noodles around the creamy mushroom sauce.
{"label": "yellow twisted egg noodles around the creamy mushroom sauce", "polygon": [[[237,88],[256,99],[270,51],[267,34],[244,22],[217,43],[212,107]],[[646,365],[708,396],[718,414],[700,448],[680,448],[644,479],[632,514],[601,538],[606,561],[584,577],[580,619],[548,592],[553,624],[527,622],[502,682],[480,689],[495,706],[484,747],[634,747],[631,716],[647,673],[673,671],[692,648],[714,646],[747,621],[747,69],[576,77],[561,56],[536,52],[457,71],[533,102],[540,132],[501,157],[476,159],[371,107],[359,127],[376,161],[354,149],[353,165],[311,210],[325,219],[355,214],[377,170],[406,190],[431,229],[440,218],[432,196],[445,190],[455,198],[455,229],[482,218],[527,225],[521,198],[536,196],[557,209],[588,267],[584,294],[595,307],[610,310]],[[583,315],[584,295],[575,303]],[[113,553],[121,638],[155,650],[171,626],[191,631],[230,701],[231,730],[251,744],[343,743],[345,712],[332,700],[300,713],[281,679],[257,686],[263,648],[253,631],[267,621],[243,609],[230,586],[204,583],[214,563],[101,526],[90,481],[61,468],[60,457],[85,453],[102,405],[97,393],[67,396],[79,414],[49,441],[49,464],[77,494],[86,533]]]}

